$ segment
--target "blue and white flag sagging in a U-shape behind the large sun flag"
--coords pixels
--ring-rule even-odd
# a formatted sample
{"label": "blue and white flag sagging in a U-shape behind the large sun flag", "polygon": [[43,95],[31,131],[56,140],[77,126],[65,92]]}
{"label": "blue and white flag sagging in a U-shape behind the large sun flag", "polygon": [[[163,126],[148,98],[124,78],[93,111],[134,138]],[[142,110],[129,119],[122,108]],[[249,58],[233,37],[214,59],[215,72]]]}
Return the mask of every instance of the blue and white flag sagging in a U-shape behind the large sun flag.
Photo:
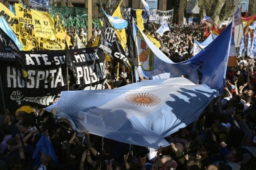
{"label": "blue and white flag sagging in a U-shape behind the large sun flag", "polygon": [[[138,68],[143,77],[160,79],[186,75],[195,84],[208,84],[211,88],[217,88],[222,92],[232,37],[232,24],[229,24],[197,55],[181,63],[173,63],[136,25],[133,29],[136,32],[135,39],[139,55]],[[138,80],[137,77],[136,80]]]}

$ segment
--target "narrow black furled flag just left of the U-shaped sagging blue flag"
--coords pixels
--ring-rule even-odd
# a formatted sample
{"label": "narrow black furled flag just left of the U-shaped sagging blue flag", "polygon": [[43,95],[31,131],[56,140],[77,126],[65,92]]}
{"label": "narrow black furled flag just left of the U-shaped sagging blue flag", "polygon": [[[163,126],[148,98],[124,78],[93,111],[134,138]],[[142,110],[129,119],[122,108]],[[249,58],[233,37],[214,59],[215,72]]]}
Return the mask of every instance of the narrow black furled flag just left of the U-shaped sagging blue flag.
{"label": "narrow black furled flag just left of the U-shaped sagging blue flag", "polygon": [[135,40],[133,38],[133,33],[132,33],[132,23],[131,21],[128,21],[128,36],[127,36],[127,43],[126,46],[128,48],[128,55],[127,58],[129,60],[129,63],[138,67],[138,53],[137,53],[137,47]]}

